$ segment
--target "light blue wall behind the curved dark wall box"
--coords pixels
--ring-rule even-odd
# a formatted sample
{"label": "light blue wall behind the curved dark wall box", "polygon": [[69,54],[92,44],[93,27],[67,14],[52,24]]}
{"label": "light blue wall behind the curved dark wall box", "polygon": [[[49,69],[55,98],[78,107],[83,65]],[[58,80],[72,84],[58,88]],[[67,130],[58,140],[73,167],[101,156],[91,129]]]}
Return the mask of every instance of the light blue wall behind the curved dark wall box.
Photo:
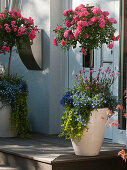
{"label": "light blue wall behind the curved dark wall box", "polygon": [[[22,0],[21,13],[24,17],[32,17],[35,25],[43,29],[42,57],[43,71],[27,70],[17,59],[21,70],[15,71],[24,75],[29,88],[30,120],[33,131],[48,133],[49,131],[49,58],[50,58],[50,0]],[[16,62],[16,59],[15,59]]]}

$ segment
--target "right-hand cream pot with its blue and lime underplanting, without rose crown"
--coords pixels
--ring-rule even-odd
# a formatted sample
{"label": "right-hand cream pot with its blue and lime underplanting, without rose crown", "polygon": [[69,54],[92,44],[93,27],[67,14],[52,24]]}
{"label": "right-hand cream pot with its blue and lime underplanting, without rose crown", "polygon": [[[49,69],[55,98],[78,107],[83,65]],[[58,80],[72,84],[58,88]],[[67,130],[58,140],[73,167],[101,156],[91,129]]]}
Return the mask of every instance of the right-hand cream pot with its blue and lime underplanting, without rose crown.
{"label": "right-hand cream pot with its blue and lime underplanting, without rose crown", "polygon": [[[117,99],[110,88],[119,72],[99,68],[97,76],[86,77],[85,70],[75,77],[73,88],[61,100],[65,106],[62,133],[72,140],[76,155],[95,156],[103,143],[108,115],[115,111]],[[118,122],[111,123],[112,126]]]}

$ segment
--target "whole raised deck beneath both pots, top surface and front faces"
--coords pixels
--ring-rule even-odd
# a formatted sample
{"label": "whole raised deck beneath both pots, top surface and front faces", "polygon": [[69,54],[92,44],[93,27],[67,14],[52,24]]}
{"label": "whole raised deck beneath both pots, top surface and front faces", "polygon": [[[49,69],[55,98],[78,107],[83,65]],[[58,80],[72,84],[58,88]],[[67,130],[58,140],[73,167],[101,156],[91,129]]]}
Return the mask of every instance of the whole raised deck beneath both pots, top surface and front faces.
{"label": "whole raised deck beneath both pots, top surface and front faces", "polygon": [[98,156],[86,157],[76,156],[70,141],[55,136],[0,138],[0,165],[6,165],[4,170],[127,170],[127,162],[117,156],[124,147],[104,143]]}

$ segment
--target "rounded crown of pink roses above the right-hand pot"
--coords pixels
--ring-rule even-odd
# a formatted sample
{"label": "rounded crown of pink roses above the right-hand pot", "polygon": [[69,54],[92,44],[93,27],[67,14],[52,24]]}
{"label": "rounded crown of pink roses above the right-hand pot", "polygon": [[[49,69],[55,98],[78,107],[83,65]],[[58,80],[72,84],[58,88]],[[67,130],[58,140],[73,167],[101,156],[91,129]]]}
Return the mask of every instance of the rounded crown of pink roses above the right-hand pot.
{"label": "rounded crown of pink roses above the right-hand pot", "polygon": [[112,49],[113,41],[120,39],[120,35],[115,36],[114,24],[117,24],[117,21],[109,17],[108,11],[81,4],[75,10],[65,10],[63,16],[63,25],[54,30],[55,46],[60,44],[63,49],[69,50],[71,46],[76,48],[79,43],[81,52],[87,55],[87,50],[97,49],[104,43]]}

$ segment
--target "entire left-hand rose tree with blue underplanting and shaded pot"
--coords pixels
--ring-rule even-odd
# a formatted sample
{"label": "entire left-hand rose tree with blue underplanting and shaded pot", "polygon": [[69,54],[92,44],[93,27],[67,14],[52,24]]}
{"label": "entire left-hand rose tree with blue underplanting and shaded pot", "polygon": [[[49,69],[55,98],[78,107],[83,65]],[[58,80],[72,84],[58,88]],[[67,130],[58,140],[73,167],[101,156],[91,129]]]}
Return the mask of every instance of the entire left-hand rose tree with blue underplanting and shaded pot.
{"label": "entire left-hand rose tree with blue underplanting and shaded pot", "polygon": [[[12,128],[16,129],[20,137],[26,137],[30,130],[27,120],[27,85],[22,77],[10,74],[10,64],[13,48],[20,48],[21,43],[32,45],[37,31],[38,28],[31,17],[24,18],[15,10],[5,9],[0,13],[0,54],[9,54],[8,69],[0,76],[0,100],[2,102],[0,119],[8,123],[3,127],[4,133],[1,127],[1,137],[15,136]],[[1,116],[5,117],[1,118]],[[11,119],[11,127],[9,119]]]}

